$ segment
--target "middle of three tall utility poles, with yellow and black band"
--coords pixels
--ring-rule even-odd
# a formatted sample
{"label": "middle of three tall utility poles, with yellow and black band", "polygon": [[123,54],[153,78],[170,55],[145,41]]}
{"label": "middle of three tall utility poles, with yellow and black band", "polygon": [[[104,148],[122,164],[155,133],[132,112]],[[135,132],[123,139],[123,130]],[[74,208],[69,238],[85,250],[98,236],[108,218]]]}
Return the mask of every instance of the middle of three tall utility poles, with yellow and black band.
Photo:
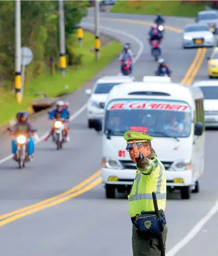
{"label": "middle of three tall utility poles, with yellow and black band", "polygon": [[65,56],[65,24],[64,24],[63,0],[59,0],[59,34],[60,34],[59,65],[61,69],[61,75],[65,77],[65,69],[66,69],[67,63],[66,63],[66,56]]}

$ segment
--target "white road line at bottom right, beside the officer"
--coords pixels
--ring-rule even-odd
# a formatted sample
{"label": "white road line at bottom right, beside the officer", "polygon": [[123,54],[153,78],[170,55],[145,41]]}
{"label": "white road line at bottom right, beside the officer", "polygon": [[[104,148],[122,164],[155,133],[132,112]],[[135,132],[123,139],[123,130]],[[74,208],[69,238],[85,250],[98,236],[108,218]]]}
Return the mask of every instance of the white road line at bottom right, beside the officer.
{"label": "white road line at bottom right, beside the officer", "polygon": [[170,249],[166,256],[174,256],[176,253],[181,250],[189,241],[191,241],[196,234],[201,230],[201,228],[208,222],[218,212],[218,198],[215,202],[215,205],[211,208],[210,212],[208,212],[193,228],[192,230],[176,245]]}

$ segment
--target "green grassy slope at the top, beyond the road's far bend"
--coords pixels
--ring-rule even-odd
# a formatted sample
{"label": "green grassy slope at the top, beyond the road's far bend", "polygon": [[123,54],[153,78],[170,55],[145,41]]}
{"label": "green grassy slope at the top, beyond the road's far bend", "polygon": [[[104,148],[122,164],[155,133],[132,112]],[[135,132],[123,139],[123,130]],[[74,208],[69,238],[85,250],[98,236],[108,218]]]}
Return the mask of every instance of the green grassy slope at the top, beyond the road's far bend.
{"label": "green grassy slope at the top, beyond the road's far bend", "polygon": [[205,5],[210,6],[210,1],[119,1],[110,12],[196,17]]}

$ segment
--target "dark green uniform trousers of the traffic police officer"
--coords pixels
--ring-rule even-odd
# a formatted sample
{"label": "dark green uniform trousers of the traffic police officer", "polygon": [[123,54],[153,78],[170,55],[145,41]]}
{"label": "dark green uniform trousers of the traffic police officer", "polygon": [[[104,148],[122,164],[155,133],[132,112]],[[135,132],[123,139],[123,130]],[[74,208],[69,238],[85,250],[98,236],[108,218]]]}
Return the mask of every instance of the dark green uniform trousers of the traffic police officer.
{"label": "dark green uniform trousers of the traffic police officer", "polygon": [[[164,225],[162,233],[164,248],[166,250],[167,226]],[[135,225],[132,225],[132,251],[133,256],[161,256],[159,241],[156,237],[149,239],[148,236],[141,237],[136,232]]]}

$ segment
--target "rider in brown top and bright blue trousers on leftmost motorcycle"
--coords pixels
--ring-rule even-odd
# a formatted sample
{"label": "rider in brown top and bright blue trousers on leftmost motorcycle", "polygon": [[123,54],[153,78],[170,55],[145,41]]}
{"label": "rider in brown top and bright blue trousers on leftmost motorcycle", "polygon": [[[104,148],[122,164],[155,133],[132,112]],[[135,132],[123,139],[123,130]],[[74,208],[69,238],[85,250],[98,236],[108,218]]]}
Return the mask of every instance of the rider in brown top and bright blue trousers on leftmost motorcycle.
{"label": "rider in brown top and bright blue trousers on leftmost motorcycle", "polygon": [[[33,153],[34,153],[34,142],[31,136],[35,132],[32,125],[28,121],[28,113],[27,112],[18,112],[16,115],[17,123],[10,129],[12,135],[18,135],[22,134],[27,136],[29,139],[29,142],[27,142],[27,150],[28,150],[28,156],[29,160],[33,159]],[[16,159],[16,140],[12,140],[12,153],[14,154],[13,159]]]}

